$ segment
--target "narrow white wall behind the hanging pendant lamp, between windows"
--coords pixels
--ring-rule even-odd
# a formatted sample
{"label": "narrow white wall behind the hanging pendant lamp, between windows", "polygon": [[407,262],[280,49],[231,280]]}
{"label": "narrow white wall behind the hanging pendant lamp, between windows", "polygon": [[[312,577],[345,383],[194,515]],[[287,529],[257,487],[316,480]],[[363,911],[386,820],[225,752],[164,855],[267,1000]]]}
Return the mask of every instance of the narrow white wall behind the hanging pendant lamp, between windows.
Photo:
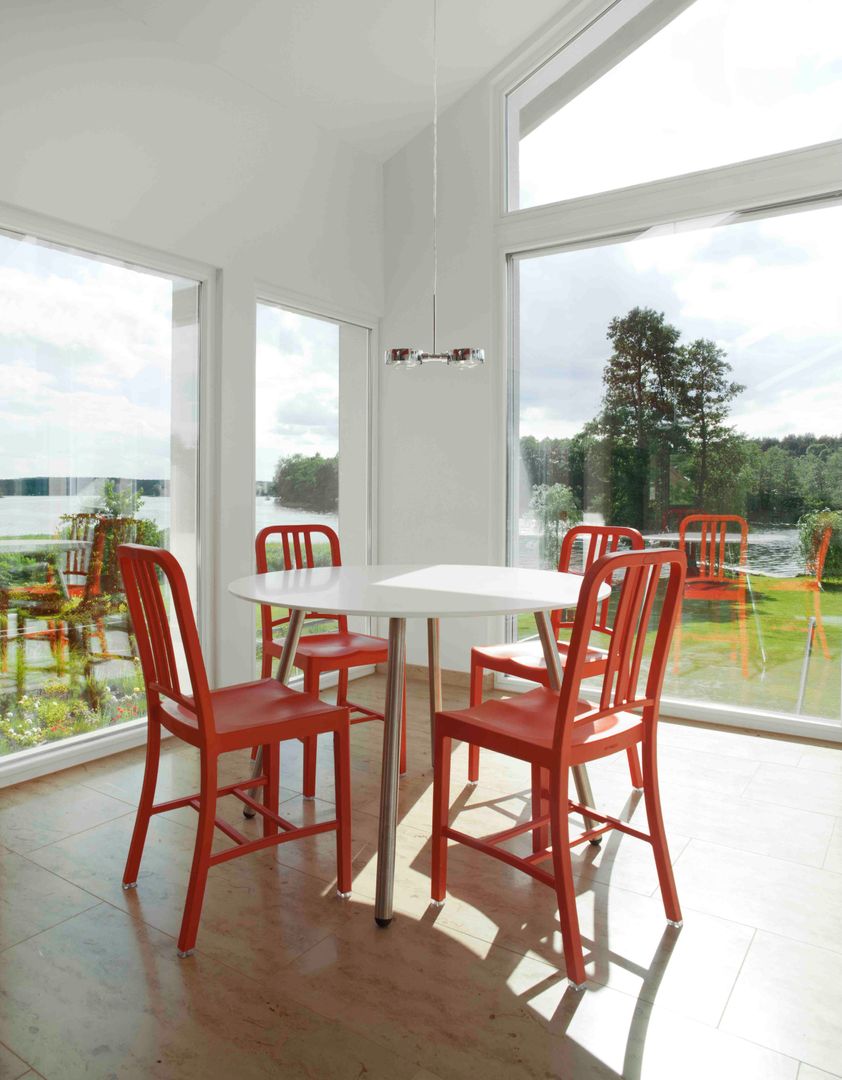
{"label": "narrow white wall behind the hanging pendant lamp, between windows", "polygon": [[[484,80],[440,118],[438,140],[438,346],[485,347],[486,363],[462,373],[438,364],[382,373],[378,555],[385,563],[497,563],[504,552],[490,103]],[[426,131],[384,167],[384,347],[432,345],[431,156]],[[466,671],[471,645],[497,630],[487,620],[445,621],[443,666]],[[410,662],[424,663],[424,627],[409,625],[407,643]]]}

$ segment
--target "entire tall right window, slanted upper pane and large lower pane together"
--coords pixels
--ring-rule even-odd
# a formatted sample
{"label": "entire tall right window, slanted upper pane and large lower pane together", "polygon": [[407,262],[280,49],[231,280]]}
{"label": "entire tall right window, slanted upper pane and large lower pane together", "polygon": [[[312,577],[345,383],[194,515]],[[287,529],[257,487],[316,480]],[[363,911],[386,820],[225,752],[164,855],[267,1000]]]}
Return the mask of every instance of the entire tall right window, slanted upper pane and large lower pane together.
{"label": "entire tall right window, slanted upper pane and large lower pane together", "polygon": [[588,522],[677,544],[688,519],[704,578],[726,515],[665,694],[839,727],[842,15],[760,6],[621,0],[508,94],[508,554],[554,566]]}

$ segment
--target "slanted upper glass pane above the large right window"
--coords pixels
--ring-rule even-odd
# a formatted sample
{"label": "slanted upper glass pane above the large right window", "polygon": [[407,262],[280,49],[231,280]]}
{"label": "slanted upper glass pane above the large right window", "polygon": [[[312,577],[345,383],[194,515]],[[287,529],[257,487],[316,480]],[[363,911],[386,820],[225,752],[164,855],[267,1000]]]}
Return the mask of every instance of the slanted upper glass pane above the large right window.
{"label": "slanted upper glass pane above the large right window", "polygon": [[838,0],[696,0],[589,85],[582,48],[510,95],[513,210],[842,137]]}

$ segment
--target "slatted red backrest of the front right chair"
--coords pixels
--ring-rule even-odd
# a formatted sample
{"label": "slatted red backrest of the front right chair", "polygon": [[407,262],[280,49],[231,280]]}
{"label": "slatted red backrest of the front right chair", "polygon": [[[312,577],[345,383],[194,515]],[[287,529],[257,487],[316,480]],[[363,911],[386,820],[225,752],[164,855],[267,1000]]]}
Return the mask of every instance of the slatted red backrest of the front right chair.
{"label": "slatted red backrest of the front right chair", "polygon": [[[583,711],[580,694],[583,679],[590,677],[586,659],[600,604],[599,589],[621,573],[622,580],[614,585],[617,593],[614,633],[608,645],[600,698],[592,708]],[[647,634],[655,621],[658,583],[665,573],[666,589],[656,617],[655,637],[648,645]],[[613,552],[588,568],[576,605],[561,683],[554,742],[557,753],[569,755],[574,721],[598,719],[620,710],[636,708],[642,708],[646,724],[656,721],[669,645],[681,610],[685,573],[684,554],[675,549]],[[638,684],[647,653],[649,673],[641,696]]]}

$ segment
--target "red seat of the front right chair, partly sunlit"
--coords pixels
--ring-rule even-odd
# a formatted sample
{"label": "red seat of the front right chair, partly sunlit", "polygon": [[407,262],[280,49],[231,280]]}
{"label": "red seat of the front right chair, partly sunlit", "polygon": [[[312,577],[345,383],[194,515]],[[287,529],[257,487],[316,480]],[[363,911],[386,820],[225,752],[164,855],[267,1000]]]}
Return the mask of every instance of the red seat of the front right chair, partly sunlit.
{"label": "red seat of the front right chair, partly sunlit", "polygon": [[[587,701],[580,701],[576,715],[594,707]],[[440,723],[443,732],[450,738],[544,765],[552,760],[557,714],[558,693],[541,687],[502,701],[489,699],[481,705],[440,713],[436,724]],[[643,721],[635,713],[617,711],[596,720],[576,720],[571,764],[581,765],[626,750],[642,737]]]}

